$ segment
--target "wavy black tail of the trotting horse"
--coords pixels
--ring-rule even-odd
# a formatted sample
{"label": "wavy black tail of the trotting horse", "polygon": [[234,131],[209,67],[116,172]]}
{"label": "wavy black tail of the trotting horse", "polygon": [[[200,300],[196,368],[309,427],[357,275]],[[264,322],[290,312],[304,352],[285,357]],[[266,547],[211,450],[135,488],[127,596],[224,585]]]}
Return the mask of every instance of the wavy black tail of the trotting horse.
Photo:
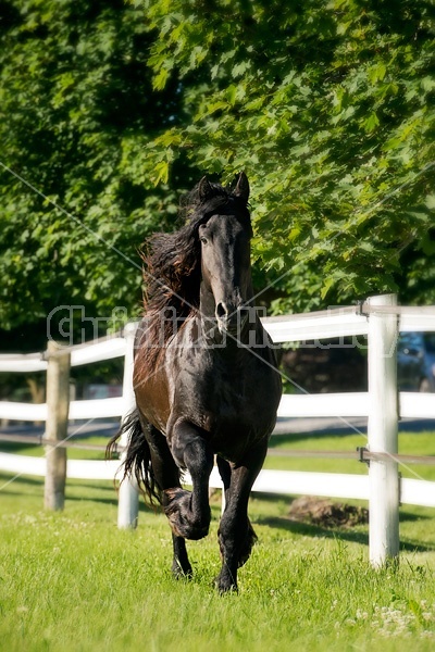
{"label": "wavy black tail of the trotting horse", "polygon": [[111,460],[117,450],[117,441],[129,432],[127,450],[123,459],[124,475],[122,482],[134,475],[139,491],[151,505],[161,503],[161,489],[157,482],[151,464],[151,452],[139,418],[138,410],[134,410],[123,421],[120,430],[112,437],[105,448],[105,457]]}

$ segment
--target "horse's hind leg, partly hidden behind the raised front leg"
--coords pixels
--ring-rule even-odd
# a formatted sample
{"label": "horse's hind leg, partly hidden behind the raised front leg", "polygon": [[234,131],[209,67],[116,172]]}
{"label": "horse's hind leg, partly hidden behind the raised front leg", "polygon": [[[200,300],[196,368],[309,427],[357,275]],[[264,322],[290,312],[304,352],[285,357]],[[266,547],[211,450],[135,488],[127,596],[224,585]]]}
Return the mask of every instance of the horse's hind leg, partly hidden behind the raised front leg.
{"label": "horse's hind leg, partly hidden behind the raised front leg", "polygon": [[[152,471],[161,490],[162,506],[166,510],[170,502],[166,490],[178,487],[179,491],[183,491],[179,482],[179,469],[171,455],[166,438],[151,425],[148,426],[148,434]],[[174,550],[172,573],[177,578],[191,577],[192,570],[187,555],[186,541],[173,532],[172,543]]]}

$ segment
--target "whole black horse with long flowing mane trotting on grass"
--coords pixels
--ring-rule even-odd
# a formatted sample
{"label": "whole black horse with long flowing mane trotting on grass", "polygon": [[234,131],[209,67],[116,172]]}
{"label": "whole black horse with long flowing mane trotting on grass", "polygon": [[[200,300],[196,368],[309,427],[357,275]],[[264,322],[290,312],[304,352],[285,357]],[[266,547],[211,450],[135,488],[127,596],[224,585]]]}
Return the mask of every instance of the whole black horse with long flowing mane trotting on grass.
{"label": "whole black horse with long flowing mane trotting on grass", "polygon": [[[174,544],[173,573],[190,576],[185,539],[209,531],[214,455],[225,489],[219,528],[220,592],[237,589],[237,568],[257,539],[248,518],[252,484],[276,421],[281,378],[254,308],[244,173],[234,190],[203,178],[189,196],[185,226],[158,234],[144,255],[148,288],[136,336],[136,411],[125,475],[162,504]],[[181,485],[188,471],[192,490]]]}

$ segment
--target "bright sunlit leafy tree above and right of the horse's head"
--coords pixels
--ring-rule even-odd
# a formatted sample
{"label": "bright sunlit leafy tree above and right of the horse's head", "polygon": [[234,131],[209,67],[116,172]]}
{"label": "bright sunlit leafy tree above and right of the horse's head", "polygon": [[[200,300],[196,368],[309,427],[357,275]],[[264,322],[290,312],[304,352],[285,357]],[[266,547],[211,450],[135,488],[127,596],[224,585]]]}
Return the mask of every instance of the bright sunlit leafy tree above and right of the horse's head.
{"label": "bright sunlit leafy tree above and right of the horse's head", "polygon": [[[254,189],[254,254],[307,310],[435,300],[434,17],[420,0],[146,0],[156,90],[189,120],[148,145]],[[264,237],[266,236],[266,237]]]}

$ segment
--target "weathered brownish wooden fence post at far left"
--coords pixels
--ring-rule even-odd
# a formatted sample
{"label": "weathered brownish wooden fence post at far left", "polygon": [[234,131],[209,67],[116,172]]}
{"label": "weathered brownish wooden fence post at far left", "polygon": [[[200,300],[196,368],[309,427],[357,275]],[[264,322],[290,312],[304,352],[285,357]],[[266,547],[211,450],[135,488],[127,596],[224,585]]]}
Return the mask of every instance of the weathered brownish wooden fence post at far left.
{"label": "weathered brownish wooden fence post at far left", "polygon": [[63,510],[66,482],[66,449],[54,442],[67,437],[70,411],[71,354],[62,351],[54,341],[47,347],[47,423],[44,439],[46,446],[46,482],[44,505],[47,510]]}

